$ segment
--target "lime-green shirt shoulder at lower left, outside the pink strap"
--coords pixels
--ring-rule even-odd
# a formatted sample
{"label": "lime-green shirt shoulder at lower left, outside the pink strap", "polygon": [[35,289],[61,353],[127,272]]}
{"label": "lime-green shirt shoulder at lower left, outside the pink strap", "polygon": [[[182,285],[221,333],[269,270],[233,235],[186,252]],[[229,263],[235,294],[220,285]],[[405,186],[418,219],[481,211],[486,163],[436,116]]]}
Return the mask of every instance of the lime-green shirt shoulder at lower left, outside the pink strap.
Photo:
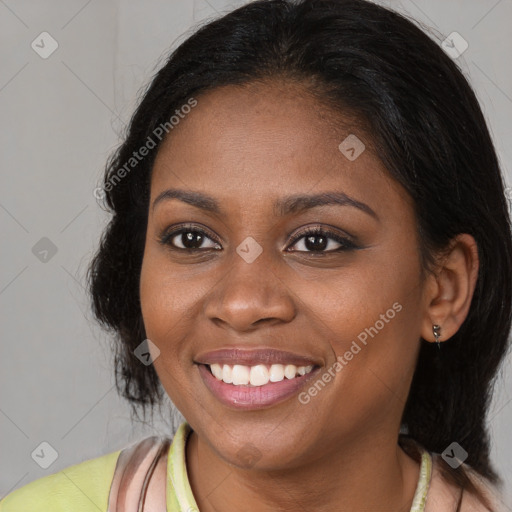
{"label": "lime-green shirt shoulder at lower left, outside the pink strap", "polygon": [[0,512],[106,511],[120,453],[89,459],[34,480],[0,500]]}

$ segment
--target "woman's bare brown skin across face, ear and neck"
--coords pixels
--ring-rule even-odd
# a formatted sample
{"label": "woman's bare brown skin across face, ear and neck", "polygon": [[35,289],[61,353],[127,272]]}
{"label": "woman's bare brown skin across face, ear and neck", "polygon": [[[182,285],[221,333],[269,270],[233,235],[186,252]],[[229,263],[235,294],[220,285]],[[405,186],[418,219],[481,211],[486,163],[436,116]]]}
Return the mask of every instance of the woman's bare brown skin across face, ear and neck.
{"label": "woman's bare brown skin across face, ear and neck", "polygon": [[[412,201],[348,117],[337,114],[344,128],[335,129],[334,114],[286,82],[197,99],[154,164],[140,297],[147,336],[160,350],[155,369],[193,429],[186,458],[199,509],[409,511],[419,464],[397,444],[400,420],[420,337],[434,341],[437,323],[445,341],[467,315],[478,269],[473,238],[455,239],[423,278]],[[354,161],[338,149],[350,133],[366,144]],[[170,188],[208,194],[222,213],[179,199],[153,209]],[[280,217],[272,206],[328,191],[378,218],[347,205]],[[159,242],[181,223],[216,236],[221,250],[211,236],[195,254]],[[329,238],[320,252],[332,252],[315,254],[304,237],[292,241],[315,225],[349,233],[358,249],[333,252],[340,245]],[[252,263],[236,252],[249,236],[263,250]],[[294,396],[234,410],[210,393],[193,362],[210,350],[273,347],[327,369],[394,303],[402,310],[307,404]],[[256,462],[240,455],[247,450]]]}

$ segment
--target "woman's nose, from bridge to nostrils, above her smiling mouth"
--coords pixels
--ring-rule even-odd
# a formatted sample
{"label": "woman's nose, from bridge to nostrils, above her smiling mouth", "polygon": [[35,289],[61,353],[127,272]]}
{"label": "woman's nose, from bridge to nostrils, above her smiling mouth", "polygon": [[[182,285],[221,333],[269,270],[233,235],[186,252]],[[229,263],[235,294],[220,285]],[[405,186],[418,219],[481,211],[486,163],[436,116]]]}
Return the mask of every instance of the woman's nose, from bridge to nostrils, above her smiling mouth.
{"label": "woman's nose, from bridge to nostrils, above her smiling mouth", "polygon": [[208,297],[205,313],[211,321],[244,332],[293,320],[293,294],[264,253],[252,263],[234,254],[231,268]]}

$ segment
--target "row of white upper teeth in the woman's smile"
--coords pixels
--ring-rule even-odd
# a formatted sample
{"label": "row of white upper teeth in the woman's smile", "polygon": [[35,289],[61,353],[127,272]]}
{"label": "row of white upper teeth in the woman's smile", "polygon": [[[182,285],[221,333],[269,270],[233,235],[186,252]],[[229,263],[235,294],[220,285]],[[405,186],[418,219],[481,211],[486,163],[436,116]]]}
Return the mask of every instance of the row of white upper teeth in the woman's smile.
{"label": "row of white upper teeth in the woman's smile", "polygon": [[226,384],[264,386],[269,382],[280,382],[285,378],[293,379],[296,376],[306,375],[313,370],[313,365],[297,367],[294,364],[273,364],[269,368],[264,364],[230,366],[213,363],[210,365],[210,369],[217,380],[222,380]]}

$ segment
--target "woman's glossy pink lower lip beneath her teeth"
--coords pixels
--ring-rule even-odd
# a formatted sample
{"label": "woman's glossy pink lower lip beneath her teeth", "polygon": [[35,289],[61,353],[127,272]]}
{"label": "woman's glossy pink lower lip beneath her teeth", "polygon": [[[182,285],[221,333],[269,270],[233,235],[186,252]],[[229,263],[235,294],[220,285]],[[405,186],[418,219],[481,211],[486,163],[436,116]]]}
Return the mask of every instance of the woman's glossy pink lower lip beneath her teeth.
{"label": "woman's glossy pink lower lip beneath her teeth", "polygon": [[320,370],[320,367],[314,368],[306,375],[293,379],[285,378],[280,382],[269,382],[264,386],[235,386],[218,380],[206,365],[198,366],[206,387],[220,402],[235,409],[263,409],[282,402],[296,395]]}

